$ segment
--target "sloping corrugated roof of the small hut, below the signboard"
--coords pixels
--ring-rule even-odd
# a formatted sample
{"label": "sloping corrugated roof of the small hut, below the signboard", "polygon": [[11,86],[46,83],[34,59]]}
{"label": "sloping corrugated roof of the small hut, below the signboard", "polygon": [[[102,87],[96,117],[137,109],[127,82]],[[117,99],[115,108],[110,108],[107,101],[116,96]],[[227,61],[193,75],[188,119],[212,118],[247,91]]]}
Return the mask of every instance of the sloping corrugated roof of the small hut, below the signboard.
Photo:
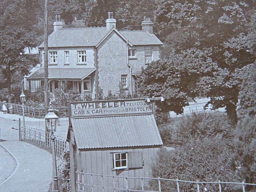
{"label": "sloping corrugated roof of the small hut, below the signboard", "polygon": [[120,148],[163,145],[151,115],[71,118],[77,148]]}

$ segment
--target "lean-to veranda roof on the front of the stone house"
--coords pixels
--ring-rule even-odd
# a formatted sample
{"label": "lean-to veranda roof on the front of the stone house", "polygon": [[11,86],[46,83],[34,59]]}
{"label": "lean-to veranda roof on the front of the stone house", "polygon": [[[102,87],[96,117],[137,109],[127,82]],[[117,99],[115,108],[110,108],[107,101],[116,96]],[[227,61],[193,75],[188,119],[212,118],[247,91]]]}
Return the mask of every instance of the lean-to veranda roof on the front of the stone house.
{"label": "lean-to veranda roof on the front of the stone house", "polygon": [[[48,68],[49,79],[83,79],[90,75],[96,68]],[[44,78],[44,68],[38,68],[27,79]]]}

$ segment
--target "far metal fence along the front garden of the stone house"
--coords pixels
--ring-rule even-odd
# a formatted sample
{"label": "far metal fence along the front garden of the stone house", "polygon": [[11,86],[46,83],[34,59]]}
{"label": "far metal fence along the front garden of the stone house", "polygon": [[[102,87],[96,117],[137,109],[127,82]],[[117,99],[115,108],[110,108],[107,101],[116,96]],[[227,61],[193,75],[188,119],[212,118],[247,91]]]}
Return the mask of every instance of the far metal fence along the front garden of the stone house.
{"label": "far metal fence along the front garden of the stone house", "polygon": [[[1,109],[4,102],[0,102]],[[21,115],[22,114],[22,105],[15,104],[15,103],[5,103],[7,109],[10,111],[10,108],[14,114]],[[68,116],[68,107],[54,107],[57,110],[56,114],[59,117],[67,117]],[[45,108],[35,108],[24,106],[24,115],[28,117],[35,117],[35,118],[44,118],[45,116]]]}

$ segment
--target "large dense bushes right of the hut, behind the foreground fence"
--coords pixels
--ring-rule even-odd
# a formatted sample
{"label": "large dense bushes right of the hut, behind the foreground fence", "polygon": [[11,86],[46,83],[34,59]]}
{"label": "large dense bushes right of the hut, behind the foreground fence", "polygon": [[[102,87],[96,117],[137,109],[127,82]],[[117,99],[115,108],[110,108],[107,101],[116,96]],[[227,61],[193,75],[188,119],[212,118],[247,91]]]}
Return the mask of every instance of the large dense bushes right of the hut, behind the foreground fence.
{"label": "large dense bushes right of the hut, behind the foreground fence", "polygon": [[[188,181],[237,181],[233,160],[233,128],[227,116],[220,112],[195,114],[172,120],[159,127],[164,145],[154,164],[153,177]],[[154,185],[154,183],[153,183]],[[156,185],[158,187],[158,185]],[[223,187],[223,186],[222,186]],[[206,184],[200,188],[218,191],[218,185]],[[176,182],[161,182],[163,191],[177,190]],[[196,191],[196,185],[180,183],[180,190]],[[222,191],[236,191],[234,186],[225,186]]]}

